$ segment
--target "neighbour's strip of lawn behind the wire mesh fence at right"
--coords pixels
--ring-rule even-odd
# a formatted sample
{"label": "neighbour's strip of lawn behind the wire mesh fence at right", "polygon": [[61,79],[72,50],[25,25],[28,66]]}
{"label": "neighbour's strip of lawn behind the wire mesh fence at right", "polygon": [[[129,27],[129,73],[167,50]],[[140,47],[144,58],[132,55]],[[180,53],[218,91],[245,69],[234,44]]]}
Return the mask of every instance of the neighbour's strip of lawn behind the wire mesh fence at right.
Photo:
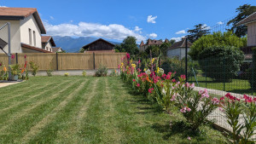
{"label": "neighbour's strip of lawn behind the wire mesh fence at right", "polygon": [[200,86],[208,89],[224,90],[237,94],[256,95],[256,92],[252,91],[248,80],[232,79],[232,82],[230,83],[219,83],[212,81],[212,78],[206,79],[206,77],[202,77],[201,74],[198,74],[196,78],[198,81],[198,85],[196,84],[195,77],[189,78],[189,82],[195,83],[195,86]]}

